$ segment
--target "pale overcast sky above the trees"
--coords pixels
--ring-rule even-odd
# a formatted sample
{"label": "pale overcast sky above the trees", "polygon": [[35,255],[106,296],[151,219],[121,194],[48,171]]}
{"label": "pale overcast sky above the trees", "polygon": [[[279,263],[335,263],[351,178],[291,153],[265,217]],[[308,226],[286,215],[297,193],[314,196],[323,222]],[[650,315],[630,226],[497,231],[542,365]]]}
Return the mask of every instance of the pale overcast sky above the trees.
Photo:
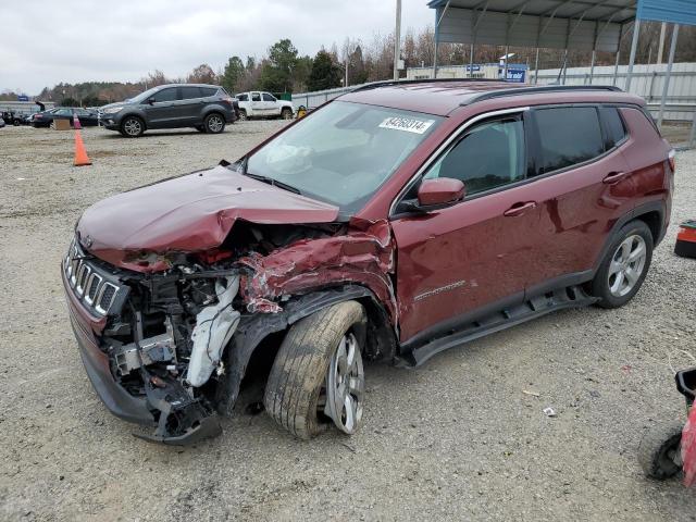
{"label": "pale overcast sky above the trees", "polygon": [[[159,69],[215,71],[232,55],[257,58],[282,38],[300,54],[369,44],[395,26],[396,0],[0,1],[0,91],[37,95],[60,82],[134,82]],[[427,0],[402,0],[401,32],[433,25]]]}

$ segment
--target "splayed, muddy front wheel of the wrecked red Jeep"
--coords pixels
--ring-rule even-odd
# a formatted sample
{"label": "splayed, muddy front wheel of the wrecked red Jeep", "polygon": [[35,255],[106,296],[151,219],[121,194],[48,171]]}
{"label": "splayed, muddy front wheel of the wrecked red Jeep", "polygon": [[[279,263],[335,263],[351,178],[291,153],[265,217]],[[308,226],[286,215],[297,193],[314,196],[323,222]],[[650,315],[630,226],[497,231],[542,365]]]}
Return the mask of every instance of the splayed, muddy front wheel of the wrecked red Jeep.
{"label": "splayed, muddy front wheel of the wrecked red Jeep", "polygon": [[333,423],[352,435],[362,423],[365,312],[346,301],[304,318],[285,336],[264,394],[266,411],[298,438]]}

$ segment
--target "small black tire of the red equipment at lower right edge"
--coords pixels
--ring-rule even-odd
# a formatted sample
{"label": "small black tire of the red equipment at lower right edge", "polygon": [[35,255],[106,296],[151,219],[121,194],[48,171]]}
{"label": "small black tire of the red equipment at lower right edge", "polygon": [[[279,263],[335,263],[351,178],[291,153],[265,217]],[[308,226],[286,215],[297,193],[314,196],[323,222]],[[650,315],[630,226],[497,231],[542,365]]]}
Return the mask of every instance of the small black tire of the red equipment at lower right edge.
{"label": "small black tire of the red equipment at lower right edge", "polygon": [[[681,471],[674,462],[674,451],[682,442],[682,424],[658,425],[648,430],[638,446],[638,462],[645,476],[664,481]],[[681,461],[681,459],[680,459]]]}

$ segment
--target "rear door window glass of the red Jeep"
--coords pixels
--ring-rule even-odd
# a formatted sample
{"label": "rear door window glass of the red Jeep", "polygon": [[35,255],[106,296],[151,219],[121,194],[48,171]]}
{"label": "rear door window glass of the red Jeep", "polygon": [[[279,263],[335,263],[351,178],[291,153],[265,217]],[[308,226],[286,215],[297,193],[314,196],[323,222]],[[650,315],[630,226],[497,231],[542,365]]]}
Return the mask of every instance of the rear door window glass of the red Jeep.
{"label": "rear door window glass of the red Jeep", "polygon": [[534,111],[534,117],[540,145],[537,174],[592,160],[605,151],[599,116],[594,107],[538,109]]}

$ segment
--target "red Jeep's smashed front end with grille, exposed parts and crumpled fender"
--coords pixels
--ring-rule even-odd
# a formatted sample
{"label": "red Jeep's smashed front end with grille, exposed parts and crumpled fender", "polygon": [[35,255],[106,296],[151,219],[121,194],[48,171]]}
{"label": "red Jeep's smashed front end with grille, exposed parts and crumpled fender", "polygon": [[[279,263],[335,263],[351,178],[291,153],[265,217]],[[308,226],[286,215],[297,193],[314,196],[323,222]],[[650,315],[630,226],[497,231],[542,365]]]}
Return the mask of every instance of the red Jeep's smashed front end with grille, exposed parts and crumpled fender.
{"label": "red Jeep's smashed front end with grille, exposed parts and crumpled fender", "polygon": [[332,302],[374,302],[385,328],[371,356],[393,353],[386,223],[238,221],[216,248],[128,251],[120,266],[88,243],[78,227],[63,263],[71,319],[107,407],[156,427],[138,437],[185,445],[221,433],[261,340]]}

